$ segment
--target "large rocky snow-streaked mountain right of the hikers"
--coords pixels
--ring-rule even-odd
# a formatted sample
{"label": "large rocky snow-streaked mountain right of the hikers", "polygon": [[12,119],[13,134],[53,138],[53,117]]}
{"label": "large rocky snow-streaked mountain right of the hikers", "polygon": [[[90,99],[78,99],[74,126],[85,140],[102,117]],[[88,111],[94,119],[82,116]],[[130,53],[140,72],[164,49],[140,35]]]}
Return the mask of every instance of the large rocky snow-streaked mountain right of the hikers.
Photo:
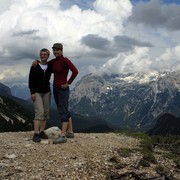
{"label": "large rocky snow-streaked mountain right of the hikers", "polygon": [[89,74],[71,91],[70,107],[116,128],[147,131],[164,113],[180,116],[180,73]]}

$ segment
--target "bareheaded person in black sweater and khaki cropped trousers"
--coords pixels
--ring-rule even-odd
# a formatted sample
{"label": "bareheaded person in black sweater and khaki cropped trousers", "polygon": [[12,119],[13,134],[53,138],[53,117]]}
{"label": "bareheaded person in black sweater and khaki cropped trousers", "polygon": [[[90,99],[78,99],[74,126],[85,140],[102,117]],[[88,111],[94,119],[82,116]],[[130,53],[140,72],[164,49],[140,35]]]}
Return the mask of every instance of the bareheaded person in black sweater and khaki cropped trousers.
{"label": "bareheaded person in black sweater and khaki cropped trousers", "polygon": [[31,99],[34,105],[34,135],[32,140],[40,142],[41,139],[48,139],[44,130],[46,122],[49,119],[50,109],[50,77],[52,73],[51,63],[47,63],[50,51],[48,49],[40,50],[40,61],[37,66],[31,66],[29,72],[29,89]]}

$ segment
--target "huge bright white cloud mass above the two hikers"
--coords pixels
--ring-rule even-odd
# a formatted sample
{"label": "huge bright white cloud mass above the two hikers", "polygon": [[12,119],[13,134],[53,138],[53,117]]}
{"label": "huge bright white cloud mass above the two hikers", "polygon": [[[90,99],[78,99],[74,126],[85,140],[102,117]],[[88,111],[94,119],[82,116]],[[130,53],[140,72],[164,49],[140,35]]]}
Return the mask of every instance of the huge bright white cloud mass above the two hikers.
{"label": "huge bright white cloud mass above the two hikers", "polygon": [[[24,68],[14,68],[16,62],[21,61],[21,66],[26,67],[23,59],[37,58],[42,47],[51,49],[54,42],[64,44],[64,54],[69,58],[86,59],[86,54],[90,56],[93,52],[82,45],[81,38],[97,34],[112,39],[121,33],[122,22],[132,8],[130,2],[124,3],[122,0],[98,0],[91,10],[82,10],[77,5],[62,10],[59,0],[2,0],[0,5],[1,79],[6,75],[19,77],[16,72]],[[122,9],[121,13],[118,13],[118,9]],[[116,17],[114,22],[113,17]],[[3,70],[6,63],[9,64],[11,73],[7,74]],[[78,65],[80,64],[81,62]],[[86,60],[82,64],[86,64]],[[28,73],[28,69],[26,70],[27,72],[21,72],[24,76]]]}

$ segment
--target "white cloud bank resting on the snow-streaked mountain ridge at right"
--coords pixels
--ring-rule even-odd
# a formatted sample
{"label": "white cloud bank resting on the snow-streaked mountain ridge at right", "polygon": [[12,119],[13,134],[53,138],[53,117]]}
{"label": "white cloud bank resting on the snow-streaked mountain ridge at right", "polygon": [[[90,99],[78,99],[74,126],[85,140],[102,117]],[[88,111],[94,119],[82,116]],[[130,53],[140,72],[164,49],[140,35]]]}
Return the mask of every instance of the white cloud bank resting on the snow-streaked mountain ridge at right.
{"label": "white cloud bank resting on the snow-streaked mountain ridge at right", "polygon": [[167,48],[154,59],[149,48],[136,47],[128,53],[119,53],[107,61],[100,69],[90,67],[89,71],[96,74],[119,74],[149,71],[176,71],[180,69],[180,46]]}

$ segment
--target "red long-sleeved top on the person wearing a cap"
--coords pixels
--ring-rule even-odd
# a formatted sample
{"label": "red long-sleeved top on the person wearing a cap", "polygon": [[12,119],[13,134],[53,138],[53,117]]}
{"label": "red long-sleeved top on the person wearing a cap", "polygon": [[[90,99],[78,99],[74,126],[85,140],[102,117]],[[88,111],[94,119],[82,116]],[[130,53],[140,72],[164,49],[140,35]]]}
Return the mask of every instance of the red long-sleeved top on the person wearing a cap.
{"label": "red long-sleeved top on the person wearing a cap", "polygon": [[[52,63],[52,72],[54,73],[53,85],[55,87],[61,88],[61,85],[63,84],[71,84],[78,74],[78,70],[74,64],[63,55],[52,59],[49,63]],[[72,74],[70,78],[67,79],[69,70],[71,70]]]}

